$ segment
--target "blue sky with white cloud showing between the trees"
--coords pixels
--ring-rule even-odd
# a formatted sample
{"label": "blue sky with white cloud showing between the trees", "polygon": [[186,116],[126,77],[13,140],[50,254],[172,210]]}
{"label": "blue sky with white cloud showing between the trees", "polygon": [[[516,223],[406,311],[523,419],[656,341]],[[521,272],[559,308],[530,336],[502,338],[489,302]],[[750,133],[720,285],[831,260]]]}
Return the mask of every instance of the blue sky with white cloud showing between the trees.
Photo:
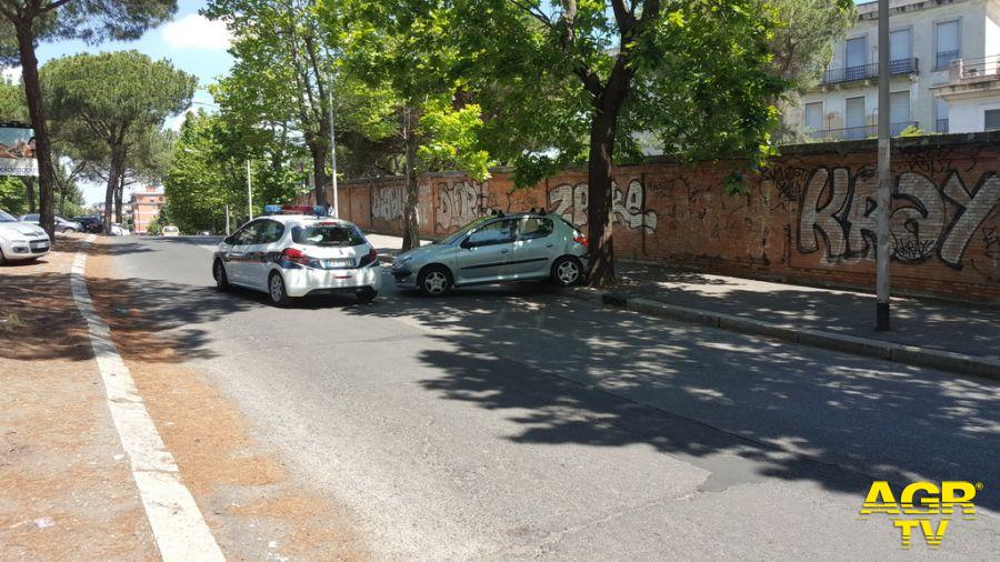
{"label": "blue sky with white cloud showing between the trees", "polygon": [[[229,73],[229,69],[232,67],[232,57],[227,52],[230,36],[226,26],[199,16],[198,10],[203,7],[203,0],[179,0],[178,11],[172,21],[147,31],[137,41],[113,41],[101,43],[97,47],[88,46],[82,41],[58,41],[39,44],[39,64],[44,64],[47,61],[59,57],[81,52],[134,49],[152,59],[169,59],[174,68],[198,77],[198,90],[194,92],[194,101],[211,103],[212,97],[206,90],[206,87],[216,82],[219,77]],[[9,77],[16,77],[20,69],[9,69],[4,73]],[[196,104],[193,107],[199,106]],[[204,108],[211,110],[211,108]],[[183,116],[178,116],[168,121],[167,126],[177,129],[182,120]],[[103,185],[83,184],[81,187],[83,188],[83,198],[88,204],[103,201]]]}

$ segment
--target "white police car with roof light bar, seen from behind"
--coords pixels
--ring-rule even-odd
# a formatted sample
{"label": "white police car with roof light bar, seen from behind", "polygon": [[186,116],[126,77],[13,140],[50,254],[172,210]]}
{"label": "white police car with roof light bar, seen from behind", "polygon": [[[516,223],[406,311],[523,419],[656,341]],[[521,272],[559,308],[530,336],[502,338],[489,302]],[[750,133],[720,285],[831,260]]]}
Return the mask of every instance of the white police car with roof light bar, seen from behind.
{"label": "white police car with roof light bar, seen from behind", "polygon": [[214,252],[220,290],[264,291],[283,307],[297,297],[354,293],[371,302],[382,287],[378,252],[353,223],[322,207],[268,205]]}

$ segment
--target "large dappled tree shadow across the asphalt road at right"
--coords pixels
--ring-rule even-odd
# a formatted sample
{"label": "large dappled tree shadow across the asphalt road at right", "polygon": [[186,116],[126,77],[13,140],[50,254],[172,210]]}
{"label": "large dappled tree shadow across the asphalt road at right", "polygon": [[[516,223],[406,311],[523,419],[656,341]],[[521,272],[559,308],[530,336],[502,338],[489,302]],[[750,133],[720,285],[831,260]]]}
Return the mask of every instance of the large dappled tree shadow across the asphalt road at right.
{"label": "large dappled tree shadow across the asphalt road at right", "polygon": [[[421,381],[521,425],[517,443],[646,444],[712,472],[863,493],[872,479],[989,480],[1000,385],[750,335],[594,309],[526,283],[442,299],[390,294],[446,349]],[[437,347],[436,347],[437,348]],[[979,504],[1000,508],[988,490]]]}

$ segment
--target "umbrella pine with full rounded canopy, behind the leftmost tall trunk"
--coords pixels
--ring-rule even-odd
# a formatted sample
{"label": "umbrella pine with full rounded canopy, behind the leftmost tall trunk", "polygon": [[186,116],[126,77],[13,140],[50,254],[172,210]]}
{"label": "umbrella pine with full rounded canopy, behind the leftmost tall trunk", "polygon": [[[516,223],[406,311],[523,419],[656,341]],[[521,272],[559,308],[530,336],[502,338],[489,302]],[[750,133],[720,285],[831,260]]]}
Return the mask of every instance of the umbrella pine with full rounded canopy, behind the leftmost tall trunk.
{"label": "umbrella pine with full rounded canopy, behind the leftmost tall trunk", "polygon": [[92,150],[98,150],[94,140],[104,144],[104,224],[110,232],[116,207],[120,218],[129,152],[141,150],[150,128],[161,127],[190,104],[197,80],[168,61],[153,61],[138,51],[56,59],[42,68],[41,79],[51,119],[71,123],[62,128],[73,136],[68,142],[90,143]]}

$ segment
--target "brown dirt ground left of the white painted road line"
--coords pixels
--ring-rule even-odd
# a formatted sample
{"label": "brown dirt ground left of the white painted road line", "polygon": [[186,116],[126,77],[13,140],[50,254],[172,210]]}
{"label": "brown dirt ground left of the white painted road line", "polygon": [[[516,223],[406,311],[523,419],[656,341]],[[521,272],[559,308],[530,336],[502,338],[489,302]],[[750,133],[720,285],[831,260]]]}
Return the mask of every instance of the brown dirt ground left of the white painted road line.
{"label": "brown dirt ground left of the white painted road line", "polygon": [[156,560],[70,292],[79,238],[0,267],[0,559]]}

